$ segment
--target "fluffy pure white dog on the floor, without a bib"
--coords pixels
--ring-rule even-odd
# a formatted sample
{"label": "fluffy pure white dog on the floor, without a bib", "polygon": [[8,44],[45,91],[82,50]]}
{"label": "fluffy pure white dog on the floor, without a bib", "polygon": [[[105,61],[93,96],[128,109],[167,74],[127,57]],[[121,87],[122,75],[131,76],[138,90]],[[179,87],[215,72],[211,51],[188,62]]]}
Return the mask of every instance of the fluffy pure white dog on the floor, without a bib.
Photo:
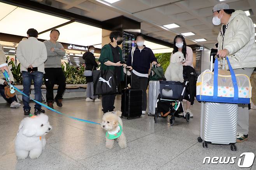
{"label": "fluffy pure white dog on the floor, without a bib", "polygon": [[46,145],[45,135],[52,129],[46,114],[24,118],[15,139],[18,159],[38,158]]}

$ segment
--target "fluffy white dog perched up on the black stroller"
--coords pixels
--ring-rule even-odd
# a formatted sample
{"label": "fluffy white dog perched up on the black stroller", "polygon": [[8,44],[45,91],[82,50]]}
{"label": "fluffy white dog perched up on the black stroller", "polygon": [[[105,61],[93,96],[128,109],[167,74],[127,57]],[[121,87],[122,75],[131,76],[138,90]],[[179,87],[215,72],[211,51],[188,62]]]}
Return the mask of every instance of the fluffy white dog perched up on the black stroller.
{"label": "fluffy white dog perched up on the black stroller", "polygon": [[165,78],[167,81],[184,82],[183,66],[185,62],[182,52],[175,52],[171,55],[170,64],[165,71]]}

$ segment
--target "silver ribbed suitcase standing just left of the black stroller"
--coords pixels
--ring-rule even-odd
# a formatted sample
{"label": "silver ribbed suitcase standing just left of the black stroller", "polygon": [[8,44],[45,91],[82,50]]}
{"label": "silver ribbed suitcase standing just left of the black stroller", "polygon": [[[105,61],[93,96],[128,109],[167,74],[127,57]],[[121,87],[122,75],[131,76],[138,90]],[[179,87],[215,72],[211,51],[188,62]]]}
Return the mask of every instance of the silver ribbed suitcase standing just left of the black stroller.
{"label": "silver ribbed suitcase standing just left of the black stroller", "polygon": [[156,101],[159,94],[159,81],[149,81],[148,115],[154,116],[156,109]]}

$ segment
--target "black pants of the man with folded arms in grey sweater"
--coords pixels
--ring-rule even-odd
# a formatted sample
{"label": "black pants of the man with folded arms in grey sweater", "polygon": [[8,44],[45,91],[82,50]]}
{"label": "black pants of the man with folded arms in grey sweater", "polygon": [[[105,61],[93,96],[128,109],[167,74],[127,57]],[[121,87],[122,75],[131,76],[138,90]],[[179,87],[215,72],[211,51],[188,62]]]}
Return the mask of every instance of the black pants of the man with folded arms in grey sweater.
{"label": "black pants of the man with folded arms in grey sweater", "polygon": [[66,78],[62,68],[45,68],[44,83],[46,85],[46,101],[53,101],[53,87],[58,85],[57,95],[55,99],[62,99],[62,95],[66,88]]}

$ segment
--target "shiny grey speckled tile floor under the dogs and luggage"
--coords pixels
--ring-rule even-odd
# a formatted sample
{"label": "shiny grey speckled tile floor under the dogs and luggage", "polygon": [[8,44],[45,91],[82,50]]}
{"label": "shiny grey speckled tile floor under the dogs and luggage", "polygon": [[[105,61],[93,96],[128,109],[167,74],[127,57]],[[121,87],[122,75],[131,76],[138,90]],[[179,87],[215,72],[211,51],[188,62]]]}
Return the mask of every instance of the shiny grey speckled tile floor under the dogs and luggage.
{"label": "shiny grey speckled tile floor under the dogs and luggage", "polygon": [[[120,109],[120,96],[116,109]],[[33,103],[31,103],[31,106]],[[33,106],[32,106],[33,107]],[[77,118],[100,122],[101,102],[85,102],[84,98],[63,101],[59,111]],[[35,160],[17,160],[14,143],[19,122],[25,117],[22,108],[11,109],[0,104],[0,156],[1,170],[196,170],[239,169],[238,158],[243,152],[256,153],[256,111],[250,111],[249,141],[237,144],[233,152],[230,146],[209,145],[203,148],[197,142],[200,134],[200,104],[192,108],[194,118],[186,122],[176,118],[170,127],[167,119],[143,115],[141,118],[123,118],[128,147],[121,149],[116,143],[113,149],[105,147],[105,132],[100,125],[93,125],[66,118],[46,111],[53,130],[47,134],[46,150]],[[233,165],[203,165],[205,156],[237,156]],[[256,164],[252,165],[256,170]]]}

